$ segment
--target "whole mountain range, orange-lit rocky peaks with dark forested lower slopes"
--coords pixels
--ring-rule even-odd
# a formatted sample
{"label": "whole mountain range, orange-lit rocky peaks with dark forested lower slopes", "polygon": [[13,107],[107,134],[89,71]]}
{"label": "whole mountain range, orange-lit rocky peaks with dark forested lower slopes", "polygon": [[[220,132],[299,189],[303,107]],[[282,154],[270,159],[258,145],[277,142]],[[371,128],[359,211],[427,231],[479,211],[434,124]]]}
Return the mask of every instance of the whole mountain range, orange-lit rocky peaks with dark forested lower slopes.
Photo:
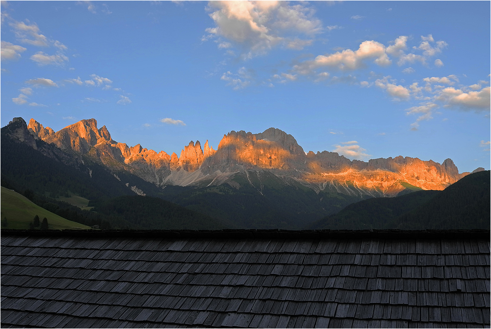
{"label": "whole mountain range, orange-lit rocky peaks with dark forested lower slopes", "polygon": [[178,156],[118,143],[95,119],[55,132],[14,118],[2,128],[1,147],[2,185],[53,198],[77,195],[96,207],[122,195],[157,197],[231,228],[298,229],[360,200],[443,190],[469,175],[451,159],[364,162],[305,152],[276,128],[231,131],[217,150],[191,141]]}

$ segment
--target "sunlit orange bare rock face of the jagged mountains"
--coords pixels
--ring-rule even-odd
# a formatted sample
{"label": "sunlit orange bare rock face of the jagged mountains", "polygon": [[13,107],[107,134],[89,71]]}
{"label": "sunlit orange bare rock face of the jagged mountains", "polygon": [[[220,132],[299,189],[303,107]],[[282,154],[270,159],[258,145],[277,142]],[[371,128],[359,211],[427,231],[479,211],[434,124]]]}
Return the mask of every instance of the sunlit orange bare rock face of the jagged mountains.
{"label": "sunlit orange bare rock face of the jagged mountains", "polygon": [[[148,150],[139,144],[129,147],[117,143],[106,126],[97,128],[95,119],[81,120],[58,132],[31,119],[28,130],[61,149],[86,154],[111,169],[128,170],[158,185],[164,184],[174,172],[181,173],[170,181],[179,183],[179,179],[185,179],[186,184],[192,184],[189,177],[213,178],[219,173],[267,170],[314,189],[329,187],[342,193],[364,191],[369,194],[375,191],[373,195],[390,196],[405,189],[401,183],[441,190],[468,174],[459,174],[451,159],[441,165],[432,160],[402,156],[364,162],[351,161],[335,152],[305,153],[292,135],[276,128],[258,134],[231,131],[223,136],[218,150],[213,150],[208,141],[203,149],[199,141],[191,141],[180,156]],[[194,175],[195,172],[199,175]]]}

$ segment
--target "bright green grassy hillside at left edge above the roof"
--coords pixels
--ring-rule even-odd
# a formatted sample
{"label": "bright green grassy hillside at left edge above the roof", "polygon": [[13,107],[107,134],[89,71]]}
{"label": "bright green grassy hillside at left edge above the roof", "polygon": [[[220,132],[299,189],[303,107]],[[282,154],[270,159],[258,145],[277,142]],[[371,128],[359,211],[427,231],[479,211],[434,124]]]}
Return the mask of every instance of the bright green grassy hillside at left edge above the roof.
{"label": "bright green grassy hillside at left edge above the roof", "polygon": [[2,229],[29,229],[29,223],[32,222],[35,215],[38,215],[41,221],[46,217],[49,228],[52,230],[90,229],[86,225],[72,222],[43,209],[25,196],[1,186]]}

